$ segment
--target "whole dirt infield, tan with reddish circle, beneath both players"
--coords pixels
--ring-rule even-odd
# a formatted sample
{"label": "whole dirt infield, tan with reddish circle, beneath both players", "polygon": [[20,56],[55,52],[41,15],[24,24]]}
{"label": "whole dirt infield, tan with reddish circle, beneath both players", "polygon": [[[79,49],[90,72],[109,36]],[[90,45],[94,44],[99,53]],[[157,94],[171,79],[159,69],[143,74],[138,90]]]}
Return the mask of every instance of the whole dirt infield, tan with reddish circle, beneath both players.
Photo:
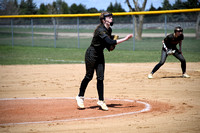
{"label": "whole dirt infield, tan with reddish circle, beneath both players", "polygon": [[[95,76],[86,91],[87,108],[77,109],[74,97],[85,74],[84,64],[0,66],[0,132],[198,133],[200,62],[187,63],[191,78],[181,77],[180,63],[165,63],[154,79],[148,79],[155,65],[107,63],[104,87],[109,111],[96,105]],[[124,99],[152,108],[102,117],[140,111],[146,106]],[[91,117],[94,119],[81,119]]]}

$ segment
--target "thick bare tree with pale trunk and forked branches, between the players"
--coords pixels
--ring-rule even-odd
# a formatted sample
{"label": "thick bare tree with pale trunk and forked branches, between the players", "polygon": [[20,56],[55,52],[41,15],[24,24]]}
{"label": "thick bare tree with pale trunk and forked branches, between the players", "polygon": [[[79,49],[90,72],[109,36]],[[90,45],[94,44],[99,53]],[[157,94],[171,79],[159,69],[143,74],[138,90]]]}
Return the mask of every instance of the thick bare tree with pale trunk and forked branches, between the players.
{"label": "thick bare tree with pale trunk and forked branches, between the players", "polygon": [[[126,3],[129,7],[130,12],[133,12],[133,7],[131,6],[129,0],[126,0]],[[145,6],[147,3],[147,0],[143,1],[142,7],[139,7],[139,3],[138,0],[133,0],[133,3],[135,5],[135,11],[139,12],[139,11],[144,11],[145,10]],[[138,17],[136,17],[136,15],[134,15],[134,23],[135,23],[135,38],[137,40],[141,40],[142,39],[142,30],[143,30],[143,21],[144,21],[144,15],[139,15]]]}

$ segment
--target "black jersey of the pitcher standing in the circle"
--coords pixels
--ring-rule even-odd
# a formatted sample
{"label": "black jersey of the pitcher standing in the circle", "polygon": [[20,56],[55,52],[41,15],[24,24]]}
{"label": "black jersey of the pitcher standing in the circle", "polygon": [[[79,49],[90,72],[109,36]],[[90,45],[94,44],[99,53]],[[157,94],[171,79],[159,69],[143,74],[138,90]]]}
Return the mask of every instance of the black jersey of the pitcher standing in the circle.
{"label": "black jersey of the pitcher standing in the circle", "polygon": [[111,45],[115,45],[116,41],[114,43],[108,43],[106,41],[106,38],[113,39],[112,29],[107,29],[103,24],[100,24],[97,26],[96,30],[94,31],[94,36],[91,42],[91,46],[93,46],[98,52],[103,52],[105,48],[107,48],[110,51]]}

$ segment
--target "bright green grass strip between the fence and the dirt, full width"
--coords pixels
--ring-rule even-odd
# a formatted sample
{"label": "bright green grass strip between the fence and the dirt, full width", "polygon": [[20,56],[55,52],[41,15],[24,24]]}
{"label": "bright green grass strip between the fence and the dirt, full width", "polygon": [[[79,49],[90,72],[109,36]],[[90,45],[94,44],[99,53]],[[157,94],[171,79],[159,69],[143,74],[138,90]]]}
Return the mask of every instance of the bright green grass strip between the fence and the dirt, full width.
{"label": "bright green grass strip between the fence and the dirt, full width", "polygon": [[[71,64],[84,63],[86,49],[0,46],[0,64]],[[105,50],[107,63],[158,62],[160,51]],[[184,52],[187,62],[199,62],[200,52]],[[170,56],[168,62],[178,62]]]}

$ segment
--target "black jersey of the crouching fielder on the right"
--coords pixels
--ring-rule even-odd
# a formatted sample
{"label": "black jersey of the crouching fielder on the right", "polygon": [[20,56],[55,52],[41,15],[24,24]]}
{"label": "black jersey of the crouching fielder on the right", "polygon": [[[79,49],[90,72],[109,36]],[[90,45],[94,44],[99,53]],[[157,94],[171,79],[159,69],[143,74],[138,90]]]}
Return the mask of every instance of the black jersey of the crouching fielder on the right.
{"label": "black jersey of the crouching fielder on the right", "polygon": [[174,33],[172,33],[165,37],[164,43],[168,49],[177,49],[176,45],[180,43],[183,39],[184,39],[183,34],[181,34],[178,37],[175,37]]}

